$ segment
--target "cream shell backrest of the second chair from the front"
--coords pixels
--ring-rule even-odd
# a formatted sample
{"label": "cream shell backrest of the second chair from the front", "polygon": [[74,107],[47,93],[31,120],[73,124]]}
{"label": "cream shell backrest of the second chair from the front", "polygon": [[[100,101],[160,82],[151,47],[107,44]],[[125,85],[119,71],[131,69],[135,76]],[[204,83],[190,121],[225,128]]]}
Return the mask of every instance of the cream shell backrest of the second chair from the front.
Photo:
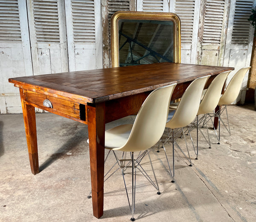
{"label": "cream shell backrest of the second chair from the front", "polygon": [[171,129],[185,127],[195,119],[204,85],[209,77],[210,76],[199,77],[190,83],[180,99],[175,114],[172,119],[166,123],[166,127]]}

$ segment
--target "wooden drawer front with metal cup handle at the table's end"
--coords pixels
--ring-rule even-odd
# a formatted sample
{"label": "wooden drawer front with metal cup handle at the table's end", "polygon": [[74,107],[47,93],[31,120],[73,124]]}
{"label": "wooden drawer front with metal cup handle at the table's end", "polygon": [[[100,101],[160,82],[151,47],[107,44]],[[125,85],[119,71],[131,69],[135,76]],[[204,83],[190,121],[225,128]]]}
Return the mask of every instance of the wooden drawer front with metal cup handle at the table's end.
{"label": "wooden drawer front with metal cup handle at the table's end", "polygon": [[[24,96],[26,103],[30,105],[72,120],[86,123],[86,109],[83,104],[27,90],[24,90]],[[44,106],[44,100],[49,100],[52,108]]]}

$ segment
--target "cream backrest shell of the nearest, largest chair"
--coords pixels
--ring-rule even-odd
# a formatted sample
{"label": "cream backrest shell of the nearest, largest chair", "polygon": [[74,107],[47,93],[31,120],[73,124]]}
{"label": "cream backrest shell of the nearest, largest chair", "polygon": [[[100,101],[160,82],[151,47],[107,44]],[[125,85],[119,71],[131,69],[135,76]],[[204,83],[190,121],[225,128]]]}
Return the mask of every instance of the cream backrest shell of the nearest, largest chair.
{"label": "cream backrest shell of the nearest, largest chair", "polygon": [[143,102],[131,134],[119,150],[141,151],[151,148],[163,135],[172,92],[177,84],[155,89]]}

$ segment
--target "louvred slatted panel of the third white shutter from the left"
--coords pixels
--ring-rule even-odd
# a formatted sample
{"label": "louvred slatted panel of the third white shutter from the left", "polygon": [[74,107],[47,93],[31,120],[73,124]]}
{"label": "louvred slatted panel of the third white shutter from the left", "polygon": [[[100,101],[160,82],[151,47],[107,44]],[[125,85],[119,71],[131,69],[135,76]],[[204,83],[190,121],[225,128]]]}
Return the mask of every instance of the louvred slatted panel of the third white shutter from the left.
{"label": "louvred slatted panel of the third white shutter from the left", "polygon": [[72,0],[74,43],[95,43],[94,0]]}

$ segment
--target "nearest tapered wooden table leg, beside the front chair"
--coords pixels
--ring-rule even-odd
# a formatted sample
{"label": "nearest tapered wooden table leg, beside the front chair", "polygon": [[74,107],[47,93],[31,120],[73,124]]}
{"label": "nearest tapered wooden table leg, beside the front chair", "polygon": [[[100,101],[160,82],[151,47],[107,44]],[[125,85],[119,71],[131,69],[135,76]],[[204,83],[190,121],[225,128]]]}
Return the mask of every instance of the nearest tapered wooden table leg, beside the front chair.
{"label": "nearest tapered wooden table leg, beside the front chair", "polygon": [[105,103],[87,105],[93,215],[103,215]]}

